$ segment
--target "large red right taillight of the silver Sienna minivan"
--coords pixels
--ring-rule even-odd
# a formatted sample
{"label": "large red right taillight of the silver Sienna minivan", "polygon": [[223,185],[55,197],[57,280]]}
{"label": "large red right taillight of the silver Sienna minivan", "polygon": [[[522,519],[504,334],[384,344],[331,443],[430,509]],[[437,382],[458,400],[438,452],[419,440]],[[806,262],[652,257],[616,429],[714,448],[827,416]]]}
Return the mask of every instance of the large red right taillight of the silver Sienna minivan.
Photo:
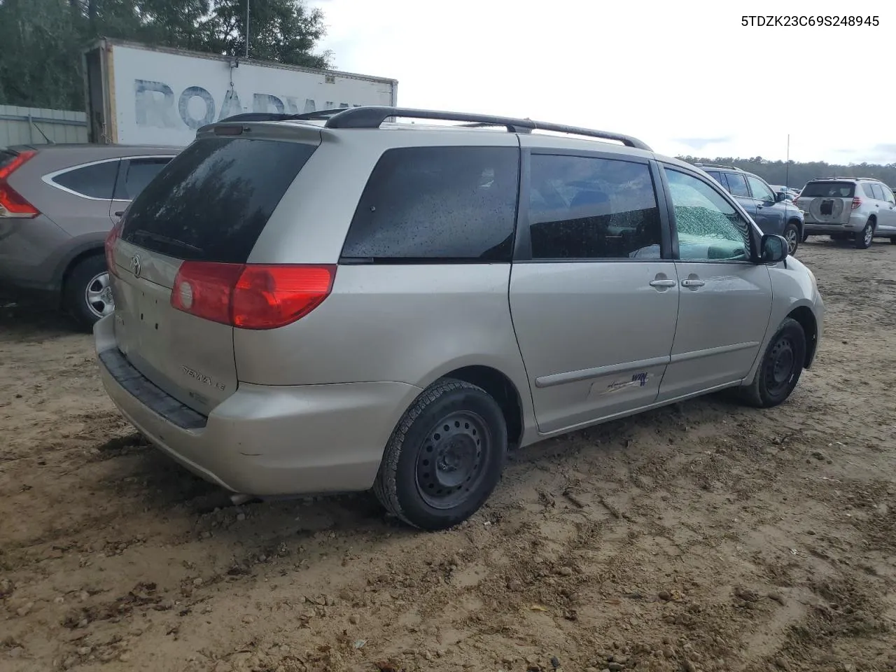
{"label": "large red right taillight of the silver Sienna minivan", "polygon": [[330,296],[335,266],[184,262],[171,306],[241,329],[276,329]]}

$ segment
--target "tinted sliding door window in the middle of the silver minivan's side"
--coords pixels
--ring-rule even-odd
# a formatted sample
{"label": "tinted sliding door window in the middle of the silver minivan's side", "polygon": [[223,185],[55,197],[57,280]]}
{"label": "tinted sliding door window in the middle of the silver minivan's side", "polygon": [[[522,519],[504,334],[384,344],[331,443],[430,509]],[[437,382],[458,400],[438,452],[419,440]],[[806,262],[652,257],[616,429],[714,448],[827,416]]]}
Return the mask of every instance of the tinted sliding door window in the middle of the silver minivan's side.
{"label": "tinted sliding door window in the middle of the silver minivan's side", "polygon": [[650,168],[591,157],[532,156],[533,259],[659,259]]}

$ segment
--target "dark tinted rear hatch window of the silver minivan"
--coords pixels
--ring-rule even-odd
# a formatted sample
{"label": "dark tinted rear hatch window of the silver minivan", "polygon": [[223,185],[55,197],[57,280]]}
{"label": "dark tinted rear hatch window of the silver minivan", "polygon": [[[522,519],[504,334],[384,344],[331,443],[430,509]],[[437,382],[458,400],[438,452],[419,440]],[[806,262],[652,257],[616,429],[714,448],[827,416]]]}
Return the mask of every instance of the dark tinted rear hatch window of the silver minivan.
{"label": "dark tinted rear hatch window of the silver minivan", "polygon": [[179,259],[246,263],[314,149],[299,142],[198,140],[134,199],[122,237]]}

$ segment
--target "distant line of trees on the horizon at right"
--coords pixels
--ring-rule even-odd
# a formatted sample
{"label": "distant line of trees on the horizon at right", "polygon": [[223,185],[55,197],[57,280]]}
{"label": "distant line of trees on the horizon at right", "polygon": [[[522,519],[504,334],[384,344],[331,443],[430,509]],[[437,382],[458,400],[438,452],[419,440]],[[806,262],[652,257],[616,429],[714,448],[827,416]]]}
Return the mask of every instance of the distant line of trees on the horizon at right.
{"label": "distant line of trees on the horizon at right", "polygon": [[838,166],[824,161],[809,161],[807,163],[790,161],[788,167],[785,161],[770,161],[759,156],[752,159],[734,159],[732,157],[706,159],[680,156],[678,159],[688,163],[734,166],[762,177],[770,185],[788,185],[797,189],[802,189],[806,182],[815,177],[874,177],[887,185],[896,185],[896,163],[887,165],[858,163]]}

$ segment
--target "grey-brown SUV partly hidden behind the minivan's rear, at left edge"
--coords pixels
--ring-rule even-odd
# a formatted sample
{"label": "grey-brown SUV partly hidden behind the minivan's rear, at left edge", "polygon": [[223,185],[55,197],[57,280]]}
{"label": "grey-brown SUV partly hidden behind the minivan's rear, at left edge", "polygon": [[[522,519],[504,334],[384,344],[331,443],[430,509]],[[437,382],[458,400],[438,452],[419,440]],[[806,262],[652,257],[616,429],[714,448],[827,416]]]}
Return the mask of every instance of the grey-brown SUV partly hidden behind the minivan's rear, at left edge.
{"label": "grey-brown SUV partly hidden behind the minivan's rear, at left edge", "polygon": [[49,144],[0,149],[0,284],[39,292],[90,329],[113,310],[103,243],[179,149]]}

